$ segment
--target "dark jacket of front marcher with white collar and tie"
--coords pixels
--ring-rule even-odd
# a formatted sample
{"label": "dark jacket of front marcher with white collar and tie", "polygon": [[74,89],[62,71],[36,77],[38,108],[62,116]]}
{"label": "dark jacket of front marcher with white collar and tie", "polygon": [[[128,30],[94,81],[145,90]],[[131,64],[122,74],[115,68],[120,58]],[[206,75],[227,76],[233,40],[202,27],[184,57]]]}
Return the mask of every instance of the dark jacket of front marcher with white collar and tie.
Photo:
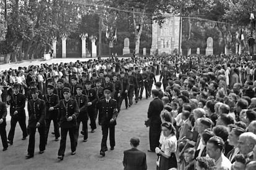
{"label": "dark jacket of front marcher with white collar and tie", "polygon": [[[99,113],[99,123],[102,125],[116,125],[117,118],[117,103],[114,99],[109,99],[109,102],[106,102],[106,99],[101,99],[99,102],[100,113]],[[114,123],[110,123],[110,119],[114,119]]]}

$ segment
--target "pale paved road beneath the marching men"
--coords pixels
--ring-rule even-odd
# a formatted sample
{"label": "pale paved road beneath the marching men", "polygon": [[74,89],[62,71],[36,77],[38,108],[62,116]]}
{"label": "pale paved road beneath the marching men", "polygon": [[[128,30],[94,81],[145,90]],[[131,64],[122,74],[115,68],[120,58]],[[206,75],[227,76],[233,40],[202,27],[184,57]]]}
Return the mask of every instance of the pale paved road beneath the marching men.
{"label": "pale paved road beneath the marching men", "polygon": [[[157,77],[158,78],[158,77]],[[88,134],[88,142],[82,142],[83,138],[79,136],[77,154],[70,155],[70,142],[67,137],[66,155],[63,161],[57,159],[59,142],[54,141],[54,136],[49,134],[46,152],[39,155],[39,136],[36,132],[35,156],[30,160],[25,160],[27,154],[28,139],[21,140],[22,134],[19,125],[16,127],[14,144],[9,146],[6,152],[0,150],[0,169],[95,169],[95,170],[119,170],[123,169],[123,152],[130,148],[129,140],[131,137],[139,137],[139,149],[147,153],[148,169],[155,169],[156,155],[148,153],[148,128],[144,121],[147,119],[148,105],[152,98],[146,100],[145,94],[139,103],[132,105],[129,109],[124,108],[117,118],[116,126],[116,147],[113,151],[106,152],[106,156],[101,158],[101,129],[97,127],[95,133]],[[7,122],[7,133],[10,129],[10,122]],[[53,124],[51,130],[53,131]],[[109,140],[108,140],[109,147]],[[2,148],[2,144],[0,144]]]}

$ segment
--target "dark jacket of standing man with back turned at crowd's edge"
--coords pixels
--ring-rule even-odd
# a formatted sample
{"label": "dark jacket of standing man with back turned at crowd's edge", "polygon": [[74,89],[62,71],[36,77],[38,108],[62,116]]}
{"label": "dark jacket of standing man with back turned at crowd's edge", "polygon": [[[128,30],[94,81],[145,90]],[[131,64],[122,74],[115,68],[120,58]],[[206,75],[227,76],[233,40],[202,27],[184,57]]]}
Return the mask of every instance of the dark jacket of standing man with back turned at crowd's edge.
{"label": "dark jacket of standing man with back turned at crowd's edge", "polygon": [[161,123],[160,113],[163,110],[163,102],[161,99],[156,97],[150,102],[148,107],[148,119],[150,123]]}

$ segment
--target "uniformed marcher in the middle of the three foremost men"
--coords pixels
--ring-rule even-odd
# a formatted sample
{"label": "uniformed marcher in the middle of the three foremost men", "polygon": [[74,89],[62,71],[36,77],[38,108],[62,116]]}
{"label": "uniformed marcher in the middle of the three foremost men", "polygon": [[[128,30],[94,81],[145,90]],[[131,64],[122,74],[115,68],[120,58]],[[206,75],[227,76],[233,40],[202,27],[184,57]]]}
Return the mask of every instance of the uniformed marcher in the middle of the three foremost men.
{"label": "uniformed marcher in the middle of the three foremost men", "polygon": [[71,99],[69,87],[63,89],[64,99],[59,103],[59,124],[61,126],[61,145],[59,147],[58,159],[63,160],[66,150],[67,132],[69,132],[71,143],[71,155],[75,155],[75,127],[77,125],[77,117],[79,116],[79,106],[77,101]]}

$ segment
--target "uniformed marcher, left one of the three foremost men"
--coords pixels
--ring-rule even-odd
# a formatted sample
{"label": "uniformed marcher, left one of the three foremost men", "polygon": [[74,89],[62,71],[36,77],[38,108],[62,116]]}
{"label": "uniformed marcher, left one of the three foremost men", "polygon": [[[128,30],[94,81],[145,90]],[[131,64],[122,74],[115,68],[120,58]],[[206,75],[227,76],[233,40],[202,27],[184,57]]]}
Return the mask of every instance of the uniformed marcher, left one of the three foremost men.
{"label": "uniformed marcher, left one of the three foremost men", "polygon": [[45,152],[45,101],[38,98],[39,90],[37,87],[33,87],[30,91],[32,99],[28,100],[29,143],[26,159],[34,156],[36,129],[38,129],[40,134],[39,153]]}

